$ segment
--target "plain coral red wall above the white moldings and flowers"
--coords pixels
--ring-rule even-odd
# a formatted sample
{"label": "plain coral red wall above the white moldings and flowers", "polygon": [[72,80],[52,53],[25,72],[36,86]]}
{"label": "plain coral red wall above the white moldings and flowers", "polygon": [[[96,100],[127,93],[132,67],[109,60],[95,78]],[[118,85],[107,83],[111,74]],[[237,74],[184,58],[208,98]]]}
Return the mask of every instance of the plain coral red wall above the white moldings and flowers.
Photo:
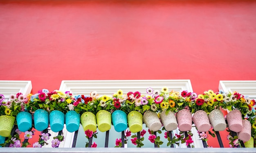
{"label": "plain coral red wall above the white moldings and flowers", "polygon": [[1,0],[0,80],[256,80],[253,0]]}

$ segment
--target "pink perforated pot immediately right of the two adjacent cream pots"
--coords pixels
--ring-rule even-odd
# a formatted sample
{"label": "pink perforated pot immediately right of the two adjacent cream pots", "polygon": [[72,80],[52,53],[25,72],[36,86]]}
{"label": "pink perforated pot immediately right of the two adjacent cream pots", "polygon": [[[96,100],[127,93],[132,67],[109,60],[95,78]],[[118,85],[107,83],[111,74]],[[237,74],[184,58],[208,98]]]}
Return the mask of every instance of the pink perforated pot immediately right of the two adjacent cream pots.
{"label": "pink perforated pot immediately right of the two adjacent cream pots", "polygon": [[180,131],[190,131],[192,129],[192,114],[188,109],[182,109],[176,114]]}

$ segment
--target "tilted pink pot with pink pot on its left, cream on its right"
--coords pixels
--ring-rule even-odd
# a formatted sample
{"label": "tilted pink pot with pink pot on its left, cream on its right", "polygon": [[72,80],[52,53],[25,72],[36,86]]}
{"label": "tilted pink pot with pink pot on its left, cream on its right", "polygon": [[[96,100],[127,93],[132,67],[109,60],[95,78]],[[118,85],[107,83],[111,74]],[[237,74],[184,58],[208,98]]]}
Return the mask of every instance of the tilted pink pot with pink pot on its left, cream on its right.
{"label": "tilted pink pot with pink pot on its left, cream on its right", "polygon": [[206,132],[211,128],[207,113],[203,110],[196,111],[192,120],[199,132]]}

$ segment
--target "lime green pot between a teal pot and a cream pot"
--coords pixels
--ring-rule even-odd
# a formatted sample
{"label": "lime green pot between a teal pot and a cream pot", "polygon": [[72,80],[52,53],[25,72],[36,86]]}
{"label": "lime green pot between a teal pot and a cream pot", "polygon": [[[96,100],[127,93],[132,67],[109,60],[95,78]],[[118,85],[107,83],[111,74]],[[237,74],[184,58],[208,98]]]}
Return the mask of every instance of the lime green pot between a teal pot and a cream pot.
{"label": "lime green pot between a teal pot and a cream pot", "polygon": [[137,133],[142,130],[142,114],[139,111],[131,111],[128,116],[128,126],[132,133]]}

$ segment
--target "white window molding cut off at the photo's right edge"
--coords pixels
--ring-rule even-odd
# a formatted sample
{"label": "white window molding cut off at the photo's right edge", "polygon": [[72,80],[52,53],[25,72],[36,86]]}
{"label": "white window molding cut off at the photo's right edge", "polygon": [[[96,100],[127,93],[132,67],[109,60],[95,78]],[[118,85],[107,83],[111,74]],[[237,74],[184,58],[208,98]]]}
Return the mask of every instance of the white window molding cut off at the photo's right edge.
{"label": "white window molding cut off at the photo's right edge", "polygon": [[256,81],[220,81],[219,90],[239,92],[249,98],[256,99]]}

